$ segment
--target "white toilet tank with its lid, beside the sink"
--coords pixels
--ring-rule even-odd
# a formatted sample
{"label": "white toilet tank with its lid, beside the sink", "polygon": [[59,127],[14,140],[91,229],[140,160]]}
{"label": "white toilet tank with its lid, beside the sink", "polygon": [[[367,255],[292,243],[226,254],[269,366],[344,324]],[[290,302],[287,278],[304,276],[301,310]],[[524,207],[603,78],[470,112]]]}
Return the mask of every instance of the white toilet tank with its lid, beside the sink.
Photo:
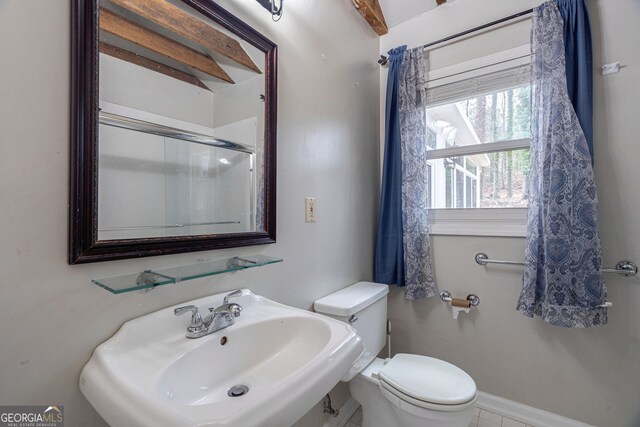
{"label": "white toilet tank with its lid, beside the sink", "polygon": [[384,347],[389,287],[380,283],[358,282],[317,300],[316,313],[349,323],[364,343],[364,353],[343,381],[350,381],[376,358]]}

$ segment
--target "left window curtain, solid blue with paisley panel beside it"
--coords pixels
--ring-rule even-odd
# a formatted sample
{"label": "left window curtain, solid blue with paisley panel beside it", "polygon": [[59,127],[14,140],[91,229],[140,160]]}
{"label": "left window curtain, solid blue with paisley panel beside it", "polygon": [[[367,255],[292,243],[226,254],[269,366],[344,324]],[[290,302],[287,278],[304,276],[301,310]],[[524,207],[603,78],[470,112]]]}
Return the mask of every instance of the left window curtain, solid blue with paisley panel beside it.
{"label": "left window curtain, solid blue with paisley panel beside it", "polygon": [[376,242],[377,282],[406,286],[408,299],[436,294],[428,223],[424,50],[389,51],[385,159]]}

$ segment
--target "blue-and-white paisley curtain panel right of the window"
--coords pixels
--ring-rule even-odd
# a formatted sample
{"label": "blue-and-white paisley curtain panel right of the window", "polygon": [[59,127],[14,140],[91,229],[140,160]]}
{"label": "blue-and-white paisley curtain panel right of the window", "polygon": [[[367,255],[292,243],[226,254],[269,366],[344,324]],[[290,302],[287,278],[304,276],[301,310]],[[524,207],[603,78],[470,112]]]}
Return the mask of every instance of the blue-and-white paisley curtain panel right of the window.
{"label": "blue-and-white paisley curtain panel right of the window", "polygon": [[584,328],[607,322],[606,289],[592,158],[569,98],[563,31],[555,2],[534,10],[529,213],[517,309],[553,325]]}

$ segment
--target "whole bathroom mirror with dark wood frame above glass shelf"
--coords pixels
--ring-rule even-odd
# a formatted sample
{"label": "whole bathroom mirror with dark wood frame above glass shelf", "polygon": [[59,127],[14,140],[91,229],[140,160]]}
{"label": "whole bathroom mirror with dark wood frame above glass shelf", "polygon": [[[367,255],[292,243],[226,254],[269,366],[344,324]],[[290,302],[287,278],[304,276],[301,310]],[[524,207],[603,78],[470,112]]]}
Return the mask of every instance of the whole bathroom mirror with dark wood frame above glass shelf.
{"label": "whole bathroom mirror with dark wood frame above glass shelf", "polygon": [[74,0],[69,262],[275,242],[276,45],[211,0]]}

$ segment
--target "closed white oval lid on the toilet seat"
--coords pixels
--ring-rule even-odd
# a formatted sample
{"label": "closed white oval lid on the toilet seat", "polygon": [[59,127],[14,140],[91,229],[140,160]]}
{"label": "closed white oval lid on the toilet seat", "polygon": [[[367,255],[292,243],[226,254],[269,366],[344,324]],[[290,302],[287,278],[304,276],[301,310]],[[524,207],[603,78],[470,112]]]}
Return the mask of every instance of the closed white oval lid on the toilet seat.
{"label": "closed white oval lid on the toilet seat", "polygon": [[378,377],[400,393],[427,403],[460,405],[476,396],[476,383],[465,371],[433,357],[396,354]]}

